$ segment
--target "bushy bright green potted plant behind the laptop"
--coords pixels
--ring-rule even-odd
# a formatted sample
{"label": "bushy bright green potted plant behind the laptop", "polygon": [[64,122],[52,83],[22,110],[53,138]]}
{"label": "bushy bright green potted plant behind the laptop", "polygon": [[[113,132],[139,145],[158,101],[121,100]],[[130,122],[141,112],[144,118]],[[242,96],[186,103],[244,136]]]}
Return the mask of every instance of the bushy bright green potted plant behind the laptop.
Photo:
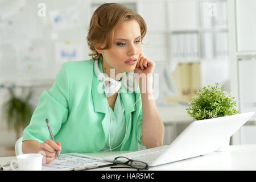
{"label": "bushy bright green potted plant behind the laptop", "polygon": [[[218,83],[215,85],[204,86],[202,92],[197,92],[191,102],[188,102],[187,113],[193,119],[203,120],[239,113],[236,109],[237,101],[232,97],[232,93],[226,92],[224,85],[221,88]],[[226,141],[226,145],[229,145],[229,140]],[[218,151],[225,150],[225,148],[224,144],[224,147]]]}

